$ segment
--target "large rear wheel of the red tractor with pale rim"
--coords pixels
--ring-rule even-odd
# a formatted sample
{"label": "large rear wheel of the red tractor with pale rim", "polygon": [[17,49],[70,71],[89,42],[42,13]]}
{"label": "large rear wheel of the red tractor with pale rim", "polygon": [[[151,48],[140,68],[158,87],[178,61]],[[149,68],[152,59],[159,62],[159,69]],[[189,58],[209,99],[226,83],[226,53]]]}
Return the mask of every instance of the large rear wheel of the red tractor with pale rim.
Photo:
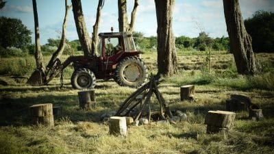
{"label": "large rear wheel of the red tractor with pale rim", "polygon": [[120,86],[141,86],[147,81],[147,66],[138,57],[126,57],[117,65],[114,80]]}

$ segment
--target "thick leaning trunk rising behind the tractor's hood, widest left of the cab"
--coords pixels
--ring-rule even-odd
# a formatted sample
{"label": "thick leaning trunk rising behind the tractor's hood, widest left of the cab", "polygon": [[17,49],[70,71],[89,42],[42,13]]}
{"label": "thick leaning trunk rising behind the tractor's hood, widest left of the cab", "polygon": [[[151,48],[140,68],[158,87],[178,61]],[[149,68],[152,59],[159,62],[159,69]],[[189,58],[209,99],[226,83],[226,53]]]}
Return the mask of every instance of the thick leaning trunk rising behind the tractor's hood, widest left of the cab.
{"label": "thick leaning trunk rising behind the tractor's hood, widest left of the cab", "polygon": [[84,56],[93,55],[94,53],[91,50],[90,36],[88,35],[88,30],[86,29],[81,0],[71,0],[71,3],[73,5],[73,16],[77,34],[82,50],[84,51]]}

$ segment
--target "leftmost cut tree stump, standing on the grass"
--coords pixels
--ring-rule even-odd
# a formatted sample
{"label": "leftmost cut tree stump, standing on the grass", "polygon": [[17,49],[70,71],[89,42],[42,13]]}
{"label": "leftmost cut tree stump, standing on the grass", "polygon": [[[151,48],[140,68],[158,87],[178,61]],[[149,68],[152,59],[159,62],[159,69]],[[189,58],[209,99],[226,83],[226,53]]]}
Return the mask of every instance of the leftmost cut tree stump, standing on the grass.
{"label": "leftmost cut tree stump, standing on the grass", "polygon": [[32,124],[54,126],[53,107],[51,103],[36,104],[29,107],[30,121]]}

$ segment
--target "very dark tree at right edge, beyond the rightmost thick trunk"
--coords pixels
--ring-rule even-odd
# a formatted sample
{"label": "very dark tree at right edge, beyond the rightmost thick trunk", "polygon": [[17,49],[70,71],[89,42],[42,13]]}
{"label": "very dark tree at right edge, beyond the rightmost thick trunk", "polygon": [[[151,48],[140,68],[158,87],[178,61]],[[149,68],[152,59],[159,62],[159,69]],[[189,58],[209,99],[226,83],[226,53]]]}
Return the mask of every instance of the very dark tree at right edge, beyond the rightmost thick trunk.
{"label": "very dark tree at right edge, beyond the rightmost thick trunk", "polygon": [[274,49],[274,13],[257,11],[245,20],[245,27],[252,38],[255,52],[273,52]]}

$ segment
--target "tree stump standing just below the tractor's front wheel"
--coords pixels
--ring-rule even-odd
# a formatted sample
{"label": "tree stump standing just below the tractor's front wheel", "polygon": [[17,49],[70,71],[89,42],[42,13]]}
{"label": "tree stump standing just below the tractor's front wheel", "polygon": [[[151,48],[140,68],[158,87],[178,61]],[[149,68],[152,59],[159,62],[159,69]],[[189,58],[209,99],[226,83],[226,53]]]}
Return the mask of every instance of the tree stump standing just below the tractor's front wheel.
{"label": "tree stump standing just below the tractor's front wheel", "polygon": [[78,92],[79,107],[82,110],[90,110],[96,106],[95,90],[86,90]]}

